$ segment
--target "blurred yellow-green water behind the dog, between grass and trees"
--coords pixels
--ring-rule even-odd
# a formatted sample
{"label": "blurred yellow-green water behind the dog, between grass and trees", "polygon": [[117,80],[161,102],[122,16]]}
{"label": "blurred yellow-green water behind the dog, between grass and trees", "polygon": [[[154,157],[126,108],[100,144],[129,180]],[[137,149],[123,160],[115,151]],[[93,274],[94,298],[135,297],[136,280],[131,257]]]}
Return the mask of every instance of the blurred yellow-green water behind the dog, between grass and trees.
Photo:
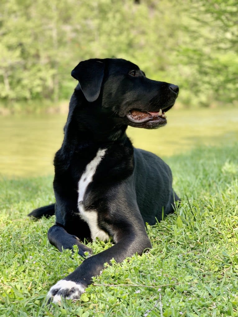
{"label": "blurred yellow-green water behind the dog, between grass and trees", "polygon": [[[53,174],[53,158],[63,141],[66,115],[0,117],[0,173],[4,177]],[[172,109],[167,126],[128,128],[134,146],[165,158],[200,145],[238,141],[238,109]]]}

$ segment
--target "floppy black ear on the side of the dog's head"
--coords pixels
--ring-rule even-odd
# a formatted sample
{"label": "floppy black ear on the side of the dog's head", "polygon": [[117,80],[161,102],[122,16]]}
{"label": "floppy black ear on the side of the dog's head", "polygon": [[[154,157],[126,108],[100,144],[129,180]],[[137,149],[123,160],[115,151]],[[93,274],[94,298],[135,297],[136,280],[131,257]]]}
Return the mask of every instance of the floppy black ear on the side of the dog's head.
{"label": "floppy black ear on the side of the dog's head", "polygon": [[101,90],[104,75],[104,62],[96,59],[81,61],[71,72],[71,76],[79,81],[85,98],[95,101]]}

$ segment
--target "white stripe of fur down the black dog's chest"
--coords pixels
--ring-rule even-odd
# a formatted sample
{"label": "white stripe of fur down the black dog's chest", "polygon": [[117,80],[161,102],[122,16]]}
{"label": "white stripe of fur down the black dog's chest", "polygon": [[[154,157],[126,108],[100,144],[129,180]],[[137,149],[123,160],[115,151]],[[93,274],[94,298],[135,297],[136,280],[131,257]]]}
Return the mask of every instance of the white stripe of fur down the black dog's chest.
{"label": "white stripe of fur down the black dog's chest", "polygon": [[78,182],[78,210],[80,212],[80,217],[88,223],[92,240],[95,240],[96,237],[98,237],[100,240],[103,241],[108,240],[109,236],[98,226],[97,211],[93,209],[87,211],[85,210],[83,205],[83,198],[88,185],[93,181],[93,176],[96,172],[96,168],[102,161],[105,152],[106,149],[99,149],[97,151],[95,158],[86,165],[86,168]]}

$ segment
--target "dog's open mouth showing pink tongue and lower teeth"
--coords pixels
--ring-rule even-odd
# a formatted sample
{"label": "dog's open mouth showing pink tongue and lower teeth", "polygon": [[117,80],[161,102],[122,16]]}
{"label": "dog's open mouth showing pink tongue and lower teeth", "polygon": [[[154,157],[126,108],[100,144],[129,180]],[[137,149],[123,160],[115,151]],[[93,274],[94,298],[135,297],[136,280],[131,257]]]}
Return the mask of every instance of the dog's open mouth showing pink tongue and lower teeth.
{"label": "dog's open mouth showing pink tongue and lower teeth", "polygon": [[134,123],[145,123],[148,121],[161,121],[166,124],[166,115],[160,109],[158,112],[140,111],[137,109],[130,110],[127,114],[127,118]]}

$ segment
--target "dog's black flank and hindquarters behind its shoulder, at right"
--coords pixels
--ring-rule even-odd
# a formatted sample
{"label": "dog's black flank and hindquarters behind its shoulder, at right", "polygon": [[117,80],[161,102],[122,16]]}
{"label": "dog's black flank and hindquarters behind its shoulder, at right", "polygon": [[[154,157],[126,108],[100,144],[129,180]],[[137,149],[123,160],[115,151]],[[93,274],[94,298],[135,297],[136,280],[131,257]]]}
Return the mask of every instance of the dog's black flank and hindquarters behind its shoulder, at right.
{"label": "dog's black flank and hindquarters behind its shoulder, at right", "polygon": [[155,224],[174,211],[179,200],[172,189],[172,172],[161,158],[141,149],[134,150],[136,197],[144,222]]}

